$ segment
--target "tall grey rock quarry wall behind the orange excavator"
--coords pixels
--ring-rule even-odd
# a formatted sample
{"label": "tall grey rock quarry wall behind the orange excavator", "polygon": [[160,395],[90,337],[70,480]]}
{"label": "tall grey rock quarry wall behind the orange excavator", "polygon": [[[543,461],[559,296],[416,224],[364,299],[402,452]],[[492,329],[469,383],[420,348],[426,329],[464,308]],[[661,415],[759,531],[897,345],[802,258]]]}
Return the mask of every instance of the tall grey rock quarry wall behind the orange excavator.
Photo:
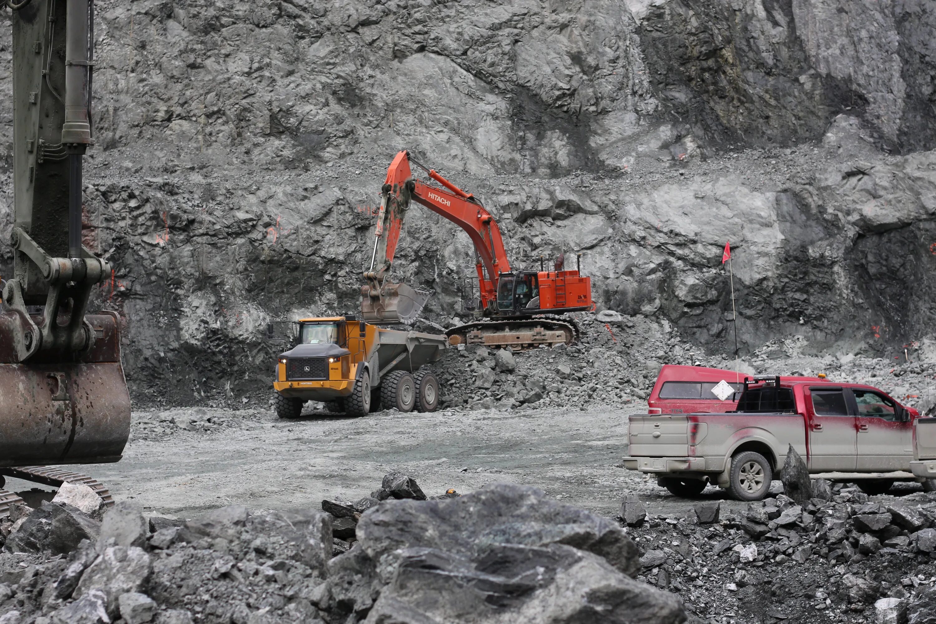
{"label": "tall grey rock quarry wall behind the orange excavator", "polygon": [[[85,238],[135,396],[269,387],[268,320],[358,309],[401,149],[482,200],[515,267],[581,253],[599,309],[733,350],[730,239],[742,353],[913,350],[936,321],[927,4],[98,2]],[[416,207],[400,249],[431,318],[460,315],[468,238]]]}

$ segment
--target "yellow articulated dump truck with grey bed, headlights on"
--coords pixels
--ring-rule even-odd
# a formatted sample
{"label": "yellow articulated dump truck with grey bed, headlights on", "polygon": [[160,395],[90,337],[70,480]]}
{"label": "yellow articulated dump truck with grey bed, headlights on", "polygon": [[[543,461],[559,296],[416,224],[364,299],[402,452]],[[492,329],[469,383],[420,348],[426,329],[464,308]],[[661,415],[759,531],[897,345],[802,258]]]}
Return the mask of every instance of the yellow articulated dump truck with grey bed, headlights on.
{"label": "yellow articulated dump truck with grey bed, headlights on", "polygon": [[442,357],[445,335],[377,327],[354,316],[306,318],[293,327],[293,346],[280,354],[273,382],[281,418],[299,416],[310,400],[349,416],[438,407],[439,381],[419,369]]}

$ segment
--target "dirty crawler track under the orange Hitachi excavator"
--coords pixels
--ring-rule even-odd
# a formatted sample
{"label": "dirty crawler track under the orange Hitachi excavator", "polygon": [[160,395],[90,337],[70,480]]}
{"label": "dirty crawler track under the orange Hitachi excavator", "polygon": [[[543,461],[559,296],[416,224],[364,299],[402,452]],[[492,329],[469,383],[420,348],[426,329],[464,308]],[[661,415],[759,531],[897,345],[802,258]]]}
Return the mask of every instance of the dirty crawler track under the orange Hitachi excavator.
{"label": "dirty crawler track under the orange Hitachi excavator", "polygon": [[511,347],[535,349],[541,344],[574,344],[578,342],[578,325],[562,316],[541,314],[524,318],[474,321],[446,331],[451,344],[466,347]]}

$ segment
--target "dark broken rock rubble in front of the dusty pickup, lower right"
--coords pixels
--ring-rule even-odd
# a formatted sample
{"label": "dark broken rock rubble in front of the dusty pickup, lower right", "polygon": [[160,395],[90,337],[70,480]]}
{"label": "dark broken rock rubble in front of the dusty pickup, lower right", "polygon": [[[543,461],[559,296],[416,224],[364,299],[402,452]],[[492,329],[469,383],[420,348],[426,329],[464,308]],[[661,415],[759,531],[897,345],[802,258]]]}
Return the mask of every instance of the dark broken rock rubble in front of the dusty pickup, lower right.
{"label": "dark broken rock rubble in front of the dusty pickup, lower right", "polygon": [[630,495],[619,519],[640,548],[637,579],[679,593],[702,621],[929,621],[936,494],[828,491],[827,501],[779,494],[743,513],[699,502],[683,517],[649,517]]}

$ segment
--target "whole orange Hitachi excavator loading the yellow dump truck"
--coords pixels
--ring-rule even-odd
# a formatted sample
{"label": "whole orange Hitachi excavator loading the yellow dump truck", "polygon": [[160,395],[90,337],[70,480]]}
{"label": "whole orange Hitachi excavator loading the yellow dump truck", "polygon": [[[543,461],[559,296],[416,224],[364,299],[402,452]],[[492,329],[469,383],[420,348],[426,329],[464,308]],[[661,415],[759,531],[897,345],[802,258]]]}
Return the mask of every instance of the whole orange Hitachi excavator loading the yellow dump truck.
{"label": "whole orange Hitachi excavator loading the yellow dump truck", "polygon": [[[423,169],[440,186],[415,180],[410,163]],[[409,322],[427,296],[403,283],[388,283],[388,273],[411,201],[422,204],[459,225],[475,244],[475,286],[465,289],[464,309],[476,318],[446,334],[452,344],[531,348],[540,344],[572,343],[578,327],[554,315],[592,309],[592,281],[575,270],[564,270],[564,254],[555,270],[511,270],[504,239],[490,212],[470,193],[447,181],[434,169],[420,165],[409,152],[390,163],[382,189],[374,230],[371,268],[364,272],[361,309],[373,323]],[[480,318],[484,317],[484,318]]]}

